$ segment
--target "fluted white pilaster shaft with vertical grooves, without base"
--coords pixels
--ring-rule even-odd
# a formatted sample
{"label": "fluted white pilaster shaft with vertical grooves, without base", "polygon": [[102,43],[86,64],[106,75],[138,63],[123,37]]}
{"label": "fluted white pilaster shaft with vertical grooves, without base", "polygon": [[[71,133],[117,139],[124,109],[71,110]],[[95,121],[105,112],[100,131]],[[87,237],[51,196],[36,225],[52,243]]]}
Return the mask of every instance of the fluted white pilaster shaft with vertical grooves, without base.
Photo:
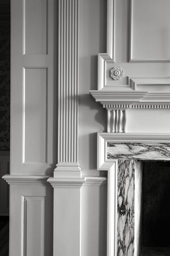
{"label": "fluted white pilaster shaft with vertical grooves, without base", "polygon": [[79,0],[59,0],[58,164],[78,164]]}

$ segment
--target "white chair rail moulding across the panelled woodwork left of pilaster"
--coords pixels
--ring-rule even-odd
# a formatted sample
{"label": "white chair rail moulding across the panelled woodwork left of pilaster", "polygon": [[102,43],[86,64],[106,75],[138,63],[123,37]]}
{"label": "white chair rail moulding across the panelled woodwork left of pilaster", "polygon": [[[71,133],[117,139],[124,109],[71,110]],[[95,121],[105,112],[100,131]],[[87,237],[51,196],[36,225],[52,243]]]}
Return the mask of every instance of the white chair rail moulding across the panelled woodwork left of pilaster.
{"label": "white chair rail moulding across the panelled woodwork left of pilaster", "polygon": [[49,176],[44,175],[13,175],[6,174],[2,176],[9,185],[22,185],[22,184],[48,184]]}

